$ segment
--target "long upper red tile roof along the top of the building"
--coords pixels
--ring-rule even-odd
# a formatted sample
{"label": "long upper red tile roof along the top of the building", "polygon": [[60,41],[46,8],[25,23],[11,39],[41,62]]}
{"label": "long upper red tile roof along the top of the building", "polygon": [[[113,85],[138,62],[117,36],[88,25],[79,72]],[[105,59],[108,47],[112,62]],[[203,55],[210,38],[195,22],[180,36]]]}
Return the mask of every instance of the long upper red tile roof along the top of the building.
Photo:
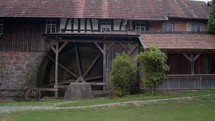
{"label": "long upper red tile roof along the top of the building", "polygon": [[188,0],[0,0],[0,17],[208,18],[208,6]]}

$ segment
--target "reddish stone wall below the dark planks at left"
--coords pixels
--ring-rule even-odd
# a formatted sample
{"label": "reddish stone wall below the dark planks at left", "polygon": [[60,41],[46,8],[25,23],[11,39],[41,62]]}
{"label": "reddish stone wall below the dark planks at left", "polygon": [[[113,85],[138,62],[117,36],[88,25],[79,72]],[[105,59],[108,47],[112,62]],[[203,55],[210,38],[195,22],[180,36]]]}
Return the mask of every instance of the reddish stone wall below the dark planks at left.
{"label": "reddish stone wall below the dark planks at left", "polygon": [[24,91],[36,87],[44,52],[0,51],[0,100],[22,99]]}

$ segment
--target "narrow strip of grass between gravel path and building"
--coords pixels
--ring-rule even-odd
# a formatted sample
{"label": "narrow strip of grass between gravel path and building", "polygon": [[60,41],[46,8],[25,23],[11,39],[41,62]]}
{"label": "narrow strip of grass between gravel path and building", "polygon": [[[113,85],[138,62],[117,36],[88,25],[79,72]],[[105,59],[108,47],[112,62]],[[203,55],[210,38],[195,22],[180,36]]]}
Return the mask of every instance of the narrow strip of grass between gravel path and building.
{"label": "narrow strip of grass between gravel path and building", "polygon": [[[96,98],[78,101],[64,101],[62,99],[42,99],[39,102],[35,101],[11,101],[11,102],[0,102],[0,106],[52,106],[57,104],[58,107],[69,107],[69,106],[87,106],[96,104],[106,104],[113,102],[125,102],[132,100],[150,100],[150,99],[162,99],[162,98],[175,98],[175,97],[186,97],[186,96],[198,96],[198,95],[210,95],[215,94],[215,90],[209,91],[190,91],[190,92],[162,92],[155,95],[149,93],[139,94],[139,95],[129,95],[126,97],[106,97],[106,98]],[[61,104],[64,103],[65,104]],[[59,103],[59,104],[58,104]]]}

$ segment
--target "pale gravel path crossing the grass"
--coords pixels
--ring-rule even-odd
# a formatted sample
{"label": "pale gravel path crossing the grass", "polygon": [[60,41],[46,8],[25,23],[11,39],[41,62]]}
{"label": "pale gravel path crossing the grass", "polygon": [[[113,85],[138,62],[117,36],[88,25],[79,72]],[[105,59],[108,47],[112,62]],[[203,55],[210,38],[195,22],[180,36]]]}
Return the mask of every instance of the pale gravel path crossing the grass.
{"label": "pale gravel path crossing the grass", "polygon": [[71,107],[57,107],[57,105],[71,103],[71,102],[55,103],[53,106],[0,106],[0,113],[11,112],[11,111],[24,111],[24,110],[59,110],[59,109],[99,108],[99,107],[108,107],[108,106],[123,106],[123,105],[128,105],[128,104],[140,105],[140,104],[148,104],[148,103],[155,103],[155,102],[161,102],[161,101],[191,100],[196,97],[206,97],[206,96],[213,96],[213,95],[153,99],[153,100],[142,100],[142,101],[127,101],[127,102],[107,103],[107,104],[98,104],[98,105],[90,105],[90,106],[71,106]]}

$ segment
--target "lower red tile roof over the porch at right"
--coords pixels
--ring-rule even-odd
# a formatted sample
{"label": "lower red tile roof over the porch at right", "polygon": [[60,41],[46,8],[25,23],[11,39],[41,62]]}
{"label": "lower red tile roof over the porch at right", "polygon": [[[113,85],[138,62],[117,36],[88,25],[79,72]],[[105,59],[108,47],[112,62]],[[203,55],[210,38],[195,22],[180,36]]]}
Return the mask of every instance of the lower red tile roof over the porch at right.
{"label": "lower red tile roof over the porch at right", "polygon": [[161,49],[215,50],[215,35],[198,33],[160,33],[141,35],[147,48],[156,45]]}

